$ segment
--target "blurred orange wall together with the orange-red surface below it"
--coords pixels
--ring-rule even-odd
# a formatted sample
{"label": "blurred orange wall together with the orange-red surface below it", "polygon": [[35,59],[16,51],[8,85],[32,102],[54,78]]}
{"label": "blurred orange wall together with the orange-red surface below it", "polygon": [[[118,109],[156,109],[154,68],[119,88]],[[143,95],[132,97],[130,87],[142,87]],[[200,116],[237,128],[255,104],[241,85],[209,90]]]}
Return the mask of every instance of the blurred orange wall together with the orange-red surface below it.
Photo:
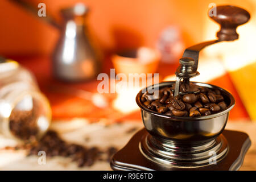
{"label": "blurred orange wall together with the orange-red surface below it", "polygon": [[[249,12],[254,12],[254,0],[219,1],[216,5],[231,4],[242,6]],[[90,32],[95,36],[98,46],[108,55],[118,49],[148,46],[155,47],[160,32],[167,26],[180,28],[185,46],[205,41],[204,21],[207,18],[209,3],[212,0],[175,1],[175,0],[55,0],[55,1],[27,1],[37,8],[38,3],[46,3],[46,14],[61,22],[59,10],[76,2],[84,2],[90,12],[86,22]],[[59,30],[40,20],[11,1],[0,1],[0,55],[19,61],[34,72],[40,89],[51,102],[53,118],[67,117],[106,117],[120,118],[114,110],[92,110],[88,102],[70,96],[60,96],[53,92],[52,85],[66,85],[52,78],[50,55],[59,37]],[[217,26],[217,24],[216,24]],[[43,55],[43,56],[42,56]],[[111,67],[108,56],[104,60],[104,72]],[[177,65],[160,65],[159,73],[162,77],[175,72]],[[238,96],[229,74],[212,80],[210,84],[228,89],[236,98],[236,106],[230,112],[230,119],[249,119]],[[71,86],[71,85],[68,85]],[[72,88],[90,90],[97,88],[97,82],[72,84]],[[89,108],[89,109],[88,109]],[[91,109],[91,110],[90,110]],[[114,117],[116,115],[116,117]],[[129,118],[140,119],[138,112],[131,113]],[[106,117],[108,118],[108,117]]]}

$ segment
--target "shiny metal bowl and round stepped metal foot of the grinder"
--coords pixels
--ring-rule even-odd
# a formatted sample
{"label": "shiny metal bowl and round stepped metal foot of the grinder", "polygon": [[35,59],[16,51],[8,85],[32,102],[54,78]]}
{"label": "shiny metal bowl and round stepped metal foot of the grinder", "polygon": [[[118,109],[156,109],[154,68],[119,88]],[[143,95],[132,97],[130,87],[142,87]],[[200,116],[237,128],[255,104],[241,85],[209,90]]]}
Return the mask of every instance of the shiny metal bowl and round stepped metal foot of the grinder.
{"label": "shiny metal bowl and round stepped metal foot of the grinder", "polygon": [[[171,86],[174,81],[161,82],[161,89]],[[159,114],[147,109],[141,96],[146,89],[137,94],[136,101],[141,107],[142,120],[148,133],[144,134],[139,143],[141,154],[154,163],[181,168],[197,168],[210,165],[210,157],[214,155],[215,162],[228,154],[228,142],[222,131],[228,121],[229,111],[234,107],[234,97],[218,86],[193,82],[199,86],[219,89],[228,105],[227,109],[200,117],[175,117]]]}

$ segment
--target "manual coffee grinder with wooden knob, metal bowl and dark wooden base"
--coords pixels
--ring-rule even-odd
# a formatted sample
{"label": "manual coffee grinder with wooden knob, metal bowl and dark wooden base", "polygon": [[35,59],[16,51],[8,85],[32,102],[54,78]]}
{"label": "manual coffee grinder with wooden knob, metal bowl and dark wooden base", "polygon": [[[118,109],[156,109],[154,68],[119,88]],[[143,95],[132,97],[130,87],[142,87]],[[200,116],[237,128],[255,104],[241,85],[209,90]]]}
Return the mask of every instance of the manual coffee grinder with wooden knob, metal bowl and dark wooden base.
{"label": "manual coffee grinder with wooden knob, metal bowl and dark wooden base", "polygon": [[[183,95],[181,81],[189,84],[189,78],[199,75],[199,52],[206,46],[222,41],[238,39],[237,26],[246,23],[250,14],[236,6],[217,6],[211,16],[220,24],[217,40],[196,44],[185,49],[176,71],[176,81],[148,86],[163,88],[175,83],[174,94]],[[144,89],[137,94],[141,107],[144,129],[138,131],[112,158],[114,170],[238,170],[243,163],[251,142],[247,134],[225,130],[234,97],[226,90],[200,82],[198,86],[220,90],[227,108],[219,113],[200,117],[175,117],[157,113],[141,102]],[[195,93],[196,90],[190,92]]]}

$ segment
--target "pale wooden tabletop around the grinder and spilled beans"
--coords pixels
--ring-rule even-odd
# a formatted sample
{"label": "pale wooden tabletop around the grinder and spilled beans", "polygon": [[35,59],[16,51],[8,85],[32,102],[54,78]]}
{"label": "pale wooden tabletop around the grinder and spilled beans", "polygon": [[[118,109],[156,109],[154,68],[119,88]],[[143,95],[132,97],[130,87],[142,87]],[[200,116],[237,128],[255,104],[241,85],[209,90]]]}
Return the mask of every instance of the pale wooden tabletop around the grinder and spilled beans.
{"label": "pale wooden tabletop around the grinder and spilled beans", "polygon": [[[115,146],[121,149],[130,140],[131,136],[143,127],[141,120],[125,121],[118,125],[104,123],[89,123],[85,118],[67,121],[56,121],[51,125],[60,136],[77,144],[108,148]],[[256,123],[228,121],[226,129],[247,133],[251,139],[251,147],[245,155],[241,171],[256,171]],[[129,132],[127,132],[129,131]],[[86,138],[86,140],[85,140]],[[15,141],[0,138],[0,148],[15,146]],[[24,151],[0,150],[0,170],[110,170],[109,163],[98,161],[91,167],[77,168],[68,158],[48,158],[46,165],[38,165],[38,156],[26,157]]]}

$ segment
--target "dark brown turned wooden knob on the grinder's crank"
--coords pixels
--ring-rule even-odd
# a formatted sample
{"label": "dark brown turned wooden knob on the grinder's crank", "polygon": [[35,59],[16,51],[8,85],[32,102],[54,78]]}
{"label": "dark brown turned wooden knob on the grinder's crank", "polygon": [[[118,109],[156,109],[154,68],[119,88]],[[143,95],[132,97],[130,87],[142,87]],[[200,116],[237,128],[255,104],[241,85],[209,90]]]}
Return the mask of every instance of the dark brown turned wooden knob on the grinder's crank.
{"label": "dark brown turned wooden knob on the grinder's crank", "polygon": [[238,39],[237,27],[248,22],[250,14],[236,6],[217,6],[216,15],[210,16],[215,22],[220,24],[220,31],[217,32],[218,40],[231,41]]}

